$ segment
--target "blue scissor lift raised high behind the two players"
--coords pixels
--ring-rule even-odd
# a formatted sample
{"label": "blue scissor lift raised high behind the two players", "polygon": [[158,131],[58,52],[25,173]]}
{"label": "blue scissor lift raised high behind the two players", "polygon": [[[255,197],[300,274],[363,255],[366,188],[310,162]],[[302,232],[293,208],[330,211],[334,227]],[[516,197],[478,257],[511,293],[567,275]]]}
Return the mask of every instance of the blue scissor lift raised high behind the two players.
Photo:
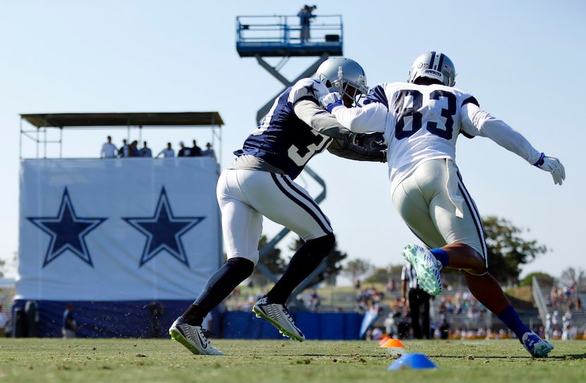
{"label": "blue scissor lift raised high behind the two players", "polygon": [[[297,83],[301,78],[309,77],[316,73],[318,66],[329,56],[342,56],[342,43],[344,41],[342,31],[342,16],[318,16],[311,19],[309,39],[301,39],[301,25],[298,16],[237,16],[237,41],[236,49],[240,57],[255,57],[256,61],[279,80],[285,88]],[[291,57],[317,56],[318,59],[306,70],[289,81],[279,73],[280,69]],[[270,66],[264,57],[281,57],[277,66]],[[275,97],[258,110],[256,121],[261,123],[269,111]],[[316,197],[320,203],[325,199],[325,182],[309,166],[304,169],[322,188],[321,193]],[[273,250],[277,243],[284,238],[289,229],[282,229],[277,235],[268,241],[260,250],[260,257]],[[257,267],[270,279],[276,282],[277,277],[271,273],[260,262]],[[315,277],[325,269],[325,261],[303,281],[292,293],[292,302],[289,305],[300,305],[297,301],[297,294],[304,290]]]}

